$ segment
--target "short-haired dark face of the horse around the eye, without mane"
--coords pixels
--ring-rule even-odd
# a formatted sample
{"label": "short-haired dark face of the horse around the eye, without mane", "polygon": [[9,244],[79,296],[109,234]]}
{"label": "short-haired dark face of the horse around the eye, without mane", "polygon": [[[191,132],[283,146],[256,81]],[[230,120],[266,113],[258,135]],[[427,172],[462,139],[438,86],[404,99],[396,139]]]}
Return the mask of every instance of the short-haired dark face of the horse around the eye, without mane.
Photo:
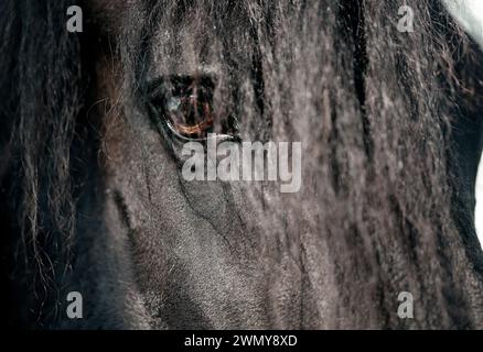
{"label": "short-haired dark face of the horse around the eye, without mane", "polygon": [[[101,7],[98,15],[108,19],[108,23],[117,23],[119,16],[136,21],[137,15],[142,18],[147,11],[140,4],[126,10],[117,3]],[[162,12],[161,4],[151,10]],[[214,131],[223,132],[221,121],[225,117],[237,114],[242,119],[247,112],[248,123],[253,122],[251,130],[245,129],[244,139],[255,141],[257,133],[268,134],[256,106],[255,90],[259,88],[250,82],[254,53],[244,37],[245,23],[238,24],[239,33],[234,30],[226,37],[232,44],[222,51],[225,43],[206,13],[181,20],[171,18],[174,10],[158,14],[144,44],[147,57],[138,77],[129,82],[124,81],[128,80],[126,77],[117,79],[119,56],[112,57],[115,67],[111,59],[101,59],[103,65],[97,68],[99,89],[95,100],[106,101],[97,108],[106,120],[103,164],[106,195],[101,197],[105,206],[100,223],[108,240],[94,242],[103,249],[103,255],[124,258],[115,271],[122,272],[119,279],[132,283],[136,290],[122,292],[108,273],[99,274],[99,279],[112,287],[120,301],[131,301],[129,305],[135,309],[127,318],[122,316],[124,309],[116,305],[114,309],[119,309],[121,319],[133,327],[149,322],[159,328],[264,328],[270,326],[270,320],[279,321],[279,327],[297,327],[300,319],[288,309],[297,310],[301,300],[298,260],[291,256],[281,260],[280,267],[271,267],[273,275],[266,273],[265,256],[269,249],[280,244],[270,239],[269,228],[259,224],[265,216],[273,215],[270,210],[267,215],[257,212],[258,204],[266,197],[257,191],[276,186],[186,182],[181,173],[181,150],[192,139],[182,141],[168,133],[157,123],[162,117],[151,111],[153,100],[165,98],[160,97],[162,85],[183,77],[185,86],[208,81],[202,84],[210,86],[203,88],[210,89],[210,103],[216,110]],[[218,31],[223,30],[226,29]],[[121,35],[124,29],[111,31]],[[136,35],[132,33],[135,37],[129,40],[138,41]],[[236,62],[227,65],[224,53],[233,55]],[[136,72],[139,67],[131,68]],[[234,77],[234,72],[245,76]],[[247,84],[250,87],[243,87]],[[234,101],[237,99],[245,102]],[[122,108],[115,106],[120,101]],[[285,233],[281,226],[271,231]],[[118,244],[114,249],[108,244],[111,241]],[[276,287],[273,293],[268,289],[270,286]],[[278,297],[277,305],[283,302],[277,311],[270,307],[270,295]],[[116,319],[119,316],[112,317],[110,323],[116,326]]]}

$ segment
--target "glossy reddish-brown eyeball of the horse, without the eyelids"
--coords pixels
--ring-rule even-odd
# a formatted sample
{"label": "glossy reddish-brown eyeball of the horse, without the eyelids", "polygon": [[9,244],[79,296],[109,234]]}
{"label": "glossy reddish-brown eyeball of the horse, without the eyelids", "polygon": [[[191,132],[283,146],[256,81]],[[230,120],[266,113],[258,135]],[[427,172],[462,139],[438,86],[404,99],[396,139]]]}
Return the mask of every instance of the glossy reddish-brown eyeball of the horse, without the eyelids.
{"label": "glossy reddish-brown eyeball of the horse, without the eyelids", "polygon": [[212,131],[212,94],[196,81],[175,87],[167,97],[164,111],[175,131],[184,136],[204,138]]}

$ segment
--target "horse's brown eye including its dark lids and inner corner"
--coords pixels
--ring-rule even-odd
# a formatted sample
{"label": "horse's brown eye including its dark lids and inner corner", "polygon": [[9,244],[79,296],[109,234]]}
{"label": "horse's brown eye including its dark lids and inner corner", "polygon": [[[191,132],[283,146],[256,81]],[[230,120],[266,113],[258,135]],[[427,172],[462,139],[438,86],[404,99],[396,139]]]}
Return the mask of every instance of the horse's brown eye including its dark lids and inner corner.
{"label": "horse's brown eye including its dark lids and inner corner", "polygon": [[224,138],[237,138],[233,117],[216,117],[213,109],[214,82],[210,77],[174,76],[154,82],[150,89],[154,119],[182,140],[204,140],[215,123]]}

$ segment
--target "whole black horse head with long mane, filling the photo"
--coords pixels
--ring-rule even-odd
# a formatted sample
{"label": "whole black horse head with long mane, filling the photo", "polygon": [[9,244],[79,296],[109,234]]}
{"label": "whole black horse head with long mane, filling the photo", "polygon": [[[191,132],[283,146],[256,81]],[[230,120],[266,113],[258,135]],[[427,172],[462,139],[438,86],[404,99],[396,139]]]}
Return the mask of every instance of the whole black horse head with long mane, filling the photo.
{"label": "whole black horse head with long mane, filling the photo", "polygon": [[[1,1],[8,324],[483,328],[483,54],[400,2]],[[207,131],[301,142],[300,191],[185,180]]]}

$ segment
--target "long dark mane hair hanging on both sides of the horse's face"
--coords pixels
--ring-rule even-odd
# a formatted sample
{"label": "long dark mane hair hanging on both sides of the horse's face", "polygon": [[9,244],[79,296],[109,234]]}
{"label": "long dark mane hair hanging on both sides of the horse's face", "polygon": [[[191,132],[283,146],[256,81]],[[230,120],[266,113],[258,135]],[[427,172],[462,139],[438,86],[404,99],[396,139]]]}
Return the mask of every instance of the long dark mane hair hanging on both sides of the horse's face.
{"label": "long dark mane hair hanging on both sides of the horse's face", "polygon": [[[407,1],[418,13],[418,28],[398,33],[399,2],[247,0],[230,7],[218,0],[159,1],[150,15],[127,14],[126,33],[137,35],[119,35],[116,55],[129,76],[127,89],[137,87],[147,57],[139,50],[157,35],[153,19],[172,25],[208,19],[226,58],[222,79],[254,82],[240,112],[266,120],[247,118],[248,130],[262,139],[303,140],[311,155],[300,196],[280,195],[261,207],[260,195],[249,195],[259,211],[253,227],[297,232],[281,220],[283,204],[289,219],[304,219],[307,233],[323,237],[337,262],[335,280],[346,309],[375,302],[367,317],[354,317],[354,326],[364,319],[402,324],[387,311],[394,293],[411,290],[421,301],[420,321],[472,327],[473,292],[461,287],[473,278],[454,277],[452,266],[470,257],[481,274],[483,264],[481,251],[451,252],[455,243],[477,243],[471,217],[461,216],[471,207],[461,211],[468,206],[457,195],[461,184],[450,169],[455,163],[451,129],[454,119],[470,119],[481,109],[469,101],[483,91],[483,75],[464,68],[475,66],[481,53],[439,2]],[[62,282],[75,243],[78,164],[73,155],[83,147],[77,129],[90,74],[83,66],[89,43],[65,30],[71,4],[78,1],[0,3],[0,72],[7,73],[0,77],[0,223],[8,234],[3,251],[17,263],[6,271],[28,273],[25,286],[44,296]],[[229,35],[243,37],[246,51]],[[316,45],[319,51],[304,52]],[[302,80],[297,70],[302,63],[323,80]],[[307,101],[300,96],[303,84],[320,101],[300,122],[290,111]],[[216,103],[235,106],[235,98]],[[308,136],[313,125],[319,132]],[[323,201],[302,209],[301,200],[313,193]],[[280,227],[273,229],[270,220]],[[290,241],[283,245],[298,240]],[[267,249],[267,261],[277,256],[272,251]],[[420,273],[431,277],[423,280]],[[368,280],[372,289],[357,289]]]}

